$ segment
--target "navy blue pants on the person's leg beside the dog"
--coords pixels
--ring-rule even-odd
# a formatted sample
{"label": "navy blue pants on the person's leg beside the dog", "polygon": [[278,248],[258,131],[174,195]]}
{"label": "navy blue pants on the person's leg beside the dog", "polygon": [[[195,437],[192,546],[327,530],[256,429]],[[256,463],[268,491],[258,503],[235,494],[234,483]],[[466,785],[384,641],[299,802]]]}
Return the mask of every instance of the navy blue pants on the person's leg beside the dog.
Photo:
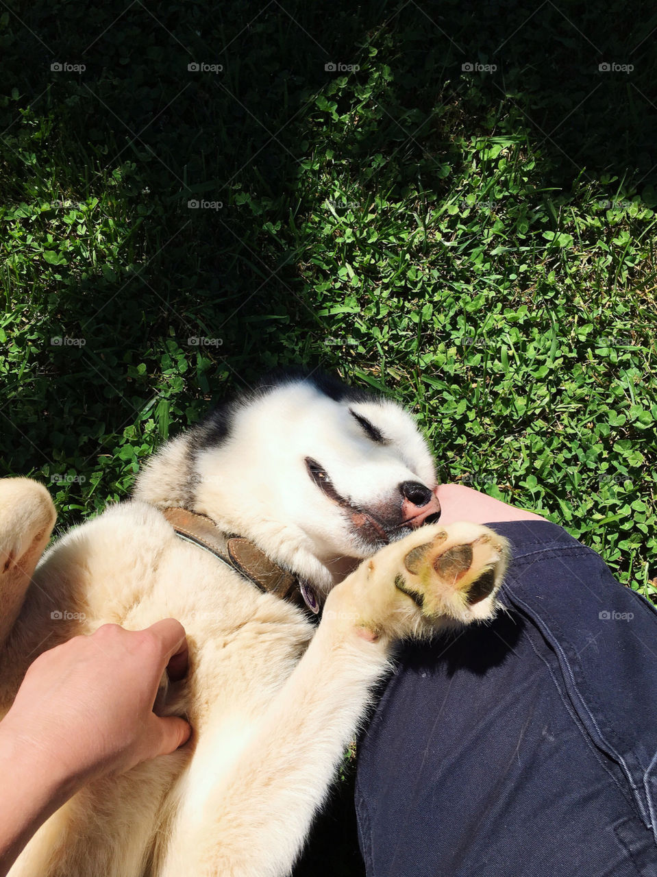
{"label": "navy blue pants on the person's leg beside the dog", "polygon": [[368,877],[657,877],[657,612],[555,524],[487,626],[409,645],[361,739]]}

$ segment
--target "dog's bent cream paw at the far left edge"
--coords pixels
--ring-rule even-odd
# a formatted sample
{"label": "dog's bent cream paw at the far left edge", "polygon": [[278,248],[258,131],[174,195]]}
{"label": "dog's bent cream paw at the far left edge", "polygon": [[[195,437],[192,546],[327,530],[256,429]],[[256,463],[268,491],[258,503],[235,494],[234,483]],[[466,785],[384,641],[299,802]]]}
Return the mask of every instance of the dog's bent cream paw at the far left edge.
{"label": "dog's bent cream paw at the far left edge", "polygon": [[18,617],[56,518],[43,484],[0,479],[0,646]]}

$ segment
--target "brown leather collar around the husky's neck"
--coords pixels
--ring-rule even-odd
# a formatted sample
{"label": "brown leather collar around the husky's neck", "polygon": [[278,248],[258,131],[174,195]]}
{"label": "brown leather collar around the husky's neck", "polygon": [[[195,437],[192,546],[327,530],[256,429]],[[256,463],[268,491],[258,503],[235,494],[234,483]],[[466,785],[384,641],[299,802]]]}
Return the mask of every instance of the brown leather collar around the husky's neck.
{"label": "brown leather collar around the husky's neck", "polygon": [[161,509],[161,513],[180,538],[214,554],[218,560],[252,581],[256,588],[317,615],[319,600],[315,589],[308,582],[300,581],[294,573],[279,567],[254,542],[219,530],[211,517],[196,511],[171,508]]}

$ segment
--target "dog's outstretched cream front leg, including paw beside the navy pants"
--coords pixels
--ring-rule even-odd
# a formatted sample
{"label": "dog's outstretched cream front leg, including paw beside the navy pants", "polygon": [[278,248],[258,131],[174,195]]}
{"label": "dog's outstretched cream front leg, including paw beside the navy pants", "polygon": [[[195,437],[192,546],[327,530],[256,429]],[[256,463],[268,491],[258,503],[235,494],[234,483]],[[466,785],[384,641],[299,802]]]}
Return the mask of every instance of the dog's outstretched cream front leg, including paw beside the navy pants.
{"label": "dog's outstretched cream front leg, including paw beside the navy pants", "polygon": [[[203,800],[194,788],[183,795],[163,877],[289,874],[394,640],[425,635],[445,617],[490,617],[506,551],[503,539],[473,524],[425,527],[334,588],[304,658],[237,765],[206,784]],[[221,746],[209,727],[194,755],[200,775],[211,777]]]}

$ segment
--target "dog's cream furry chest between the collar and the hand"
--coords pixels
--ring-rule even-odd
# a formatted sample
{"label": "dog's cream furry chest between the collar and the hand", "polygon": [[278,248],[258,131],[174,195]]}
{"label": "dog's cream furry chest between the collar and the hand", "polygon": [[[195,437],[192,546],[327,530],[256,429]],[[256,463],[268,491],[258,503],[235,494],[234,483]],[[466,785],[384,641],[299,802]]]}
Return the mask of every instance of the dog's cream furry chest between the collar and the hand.
{"label": "dog's cream furry chest between the collar and the hand", "polygon": [[[143,503],[108,510],[62,538],[39,574],[75,594],[64,608],[81,621],[142,630],[173,617],[185,628],[190,702],[221,700],[258,712],[296,666],[315,627],[302,610],[263,594],[231,567],[178,538]],[[69,597],[70,599],[70,597]],[[64,625],[60,622],[61,631]]]}

